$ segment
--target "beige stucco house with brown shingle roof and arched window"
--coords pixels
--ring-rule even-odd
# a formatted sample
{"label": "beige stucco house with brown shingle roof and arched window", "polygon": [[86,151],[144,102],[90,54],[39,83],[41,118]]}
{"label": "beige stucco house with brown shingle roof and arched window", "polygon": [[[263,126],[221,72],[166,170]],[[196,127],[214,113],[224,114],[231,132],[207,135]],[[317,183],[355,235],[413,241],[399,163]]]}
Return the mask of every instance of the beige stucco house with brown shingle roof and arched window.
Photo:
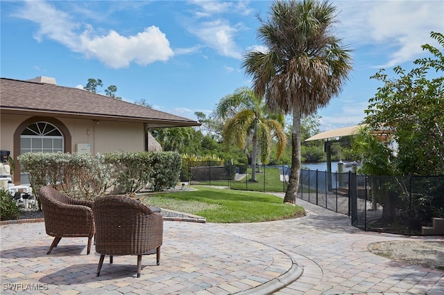
{"label": "beige stucco house with brown shingle roof and arched window", "polygon": [[0,78],[1,150],[15,160],[14,183],[26,184],[17,156],[25,152],[128,152],[158,149],[150,129],[200,123],[83,89],[54,78]]}

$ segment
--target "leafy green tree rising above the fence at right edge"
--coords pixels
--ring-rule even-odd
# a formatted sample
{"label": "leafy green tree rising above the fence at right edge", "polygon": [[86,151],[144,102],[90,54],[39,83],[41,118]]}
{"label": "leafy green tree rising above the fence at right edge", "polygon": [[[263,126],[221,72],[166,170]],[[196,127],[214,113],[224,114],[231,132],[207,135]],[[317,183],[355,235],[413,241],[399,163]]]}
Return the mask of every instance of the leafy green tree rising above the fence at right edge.
{"label": "leafy green tree rising above the fence at right edge", "polygon": [[407,72],[396,66],[398,78],[388,78],[384,69],[372,77],[384,86],[369,100],[366,123],[398,144],[393,163],[401,175],[444,175],[444,35],[431,37],[441,51],[423,45],[432,57],[415,60],[418,67]]}

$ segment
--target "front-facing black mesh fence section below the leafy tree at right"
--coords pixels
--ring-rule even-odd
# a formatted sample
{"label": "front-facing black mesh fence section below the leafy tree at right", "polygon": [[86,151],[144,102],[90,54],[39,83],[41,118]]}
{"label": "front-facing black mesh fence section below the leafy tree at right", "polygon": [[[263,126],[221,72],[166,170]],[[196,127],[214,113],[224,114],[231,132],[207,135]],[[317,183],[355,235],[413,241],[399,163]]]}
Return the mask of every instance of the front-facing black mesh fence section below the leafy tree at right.
{"label": "front-facing black mesh fence section below the leafy tree at right", "polygon": [[422,235],[432,217],[444,216],[444,177],[350,174],[352,225],[365,231]]}

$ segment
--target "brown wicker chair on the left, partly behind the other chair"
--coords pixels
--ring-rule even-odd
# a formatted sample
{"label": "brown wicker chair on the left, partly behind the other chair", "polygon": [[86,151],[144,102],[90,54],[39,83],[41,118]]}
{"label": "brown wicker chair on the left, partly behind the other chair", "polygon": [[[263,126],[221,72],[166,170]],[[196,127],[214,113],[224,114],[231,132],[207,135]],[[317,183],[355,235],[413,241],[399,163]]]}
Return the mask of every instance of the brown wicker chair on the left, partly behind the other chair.
{"label": "brown wicker chair on the left, partly behind the other chair", "polygon": [[87,237],[87,254],[91,251],[94,236],[94,215],[92,201],[73,199],[51,186],[43,186],[39,191],[42,203],[46,234],[55,237],[46,254],[57,247],[62,238]]}

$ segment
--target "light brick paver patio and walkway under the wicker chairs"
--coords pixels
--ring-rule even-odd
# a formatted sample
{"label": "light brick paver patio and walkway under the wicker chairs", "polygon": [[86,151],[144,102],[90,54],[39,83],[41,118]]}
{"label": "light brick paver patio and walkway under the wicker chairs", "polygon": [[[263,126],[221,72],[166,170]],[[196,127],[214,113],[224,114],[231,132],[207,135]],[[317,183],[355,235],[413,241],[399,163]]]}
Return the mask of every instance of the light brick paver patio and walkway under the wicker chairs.
{"label": "light brick paver patio and walkway under the wicker chairs", "polygon": [[[29,294],[444,294],[444,271],[393,262],[367,245],[418,240],[363,232],[349,217],[298,199],[307,217],[252,224],[164,222],[160,265],[135,256],[105,258],[87,238],[53,238],[44,223],[1,229],[1,293]],[[429,237],[444,240],[444,237]],[[427,239],[427,238],[424,238]],[[13,290],[15,289],[15,290]]]}

